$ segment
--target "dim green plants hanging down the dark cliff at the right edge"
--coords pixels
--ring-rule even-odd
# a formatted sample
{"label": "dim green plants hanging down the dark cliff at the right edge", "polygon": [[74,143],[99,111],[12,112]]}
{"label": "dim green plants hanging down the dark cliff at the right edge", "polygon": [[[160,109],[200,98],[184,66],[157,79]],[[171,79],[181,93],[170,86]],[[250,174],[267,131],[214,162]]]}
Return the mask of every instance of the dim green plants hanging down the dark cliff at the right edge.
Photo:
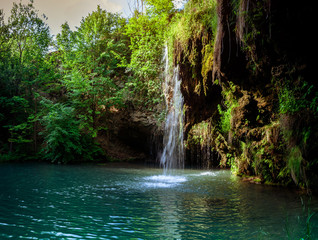
{"label": "dim green plants hanging down the dark cliff at the right edge", "polygon": [[308,153],[315,146],[313,129],[318,119],[318,92],[313,84],[301,77],[294,82],[285,80],[276,84],[279,86],[282,133],[287,146],[286,171],[297,185],[308,188],[311,183],[307,174],[317,165],[317,160]]}

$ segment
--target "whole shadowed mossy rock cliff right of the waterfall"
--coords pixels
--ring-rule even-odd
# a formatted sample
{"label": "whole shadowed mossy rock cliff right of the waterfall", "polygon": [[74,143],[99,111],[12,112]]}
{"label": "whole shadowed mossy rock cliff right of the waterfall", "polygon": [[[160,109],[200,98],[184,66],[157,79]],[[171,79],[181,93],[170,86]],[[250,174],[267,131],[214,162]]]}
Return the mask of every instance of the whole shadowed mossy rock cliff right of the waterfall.
{"label": "whole shadowed mossy rock cliff right of the waterfall", "polygon": [[[180,66],[185,100],[189,166],[233,164],[239,174],[286,183],[290,180],[286,170],[288,151],[294,153],[294,158],[315,158],[310,144],[303,144],[303,133],[309,136],[306,126],[318,129],[315,117],[308,109],[286,116],[279,110],[279,97],[287,81],[290,86],[302,86],[302,81],[317,85],[313,81],[315,44],[308,31],[314,16],[310,6],[299,2],[218,0],[217,34],[201,34],[201,38],[215,37],[213,69],[207,82],[201,75],[204,43],[189,39],[189,48],[198,51],[195,64],[187,57],[188,49],[175,44],[175,64]],[[233,95],[231,99],[229,93]],[[231,106],[228,133],[220,132],[218,105]],[[296,122],[301,123],[298,130],[291,124]],[[209,127],[205,128],[206,124]],[[317,142],[312,129],[308,139]],[[293,137],[286,140],[287,133]],[[302,166],[306,163],[302,160]],[[310,172],[313,170],[307,171],[307,177]],[[306,174],[303,170],[300,173]]]}

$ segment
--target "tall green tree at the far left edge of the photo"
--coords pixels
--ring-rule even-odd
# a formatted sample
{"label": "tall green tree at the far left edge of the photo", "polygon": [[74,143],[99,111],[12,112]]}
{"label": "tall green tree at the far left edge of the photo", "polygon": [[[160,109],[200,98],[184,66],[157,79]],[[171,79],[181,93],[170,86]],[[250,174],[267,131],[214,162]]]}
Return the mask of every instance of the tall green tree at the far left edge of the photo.
{"label": "tall green tree at the far left edge of the photo", "polygon": [[18,151],[29,142],[36,151],[37,123],[32,119],[38,111],[39,86],[46,81],[43,68],[51,42],[49,28],[33,1],[13,3],[8,23],[2,13],[0,22],[0,58],[5,59],[0,63],[3,152],[14,151],[14,143]]}

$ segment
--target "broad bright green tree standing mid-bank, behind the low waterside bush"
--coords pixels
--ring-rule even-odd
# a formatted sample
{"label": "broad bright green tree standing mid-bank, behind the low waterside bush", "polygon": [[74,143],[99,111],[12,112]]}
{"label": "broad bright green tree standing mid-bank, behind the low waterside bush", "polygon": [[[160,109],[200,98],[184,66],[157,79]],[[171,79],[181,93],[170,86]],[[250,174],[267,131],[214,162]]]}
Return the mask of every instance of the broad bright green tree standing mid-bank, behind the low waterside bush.
{"label": "broad bright green tree standing mid-bank, behind the low waterside bush", "polygon": [[107,110],[123,105],[120,85],[125,78],[120,65],[129,53],[122,34],[124,26],[122,17],[98,6],[82,19],[77,31],[72,32],[65,23],[57,36],[63,56],[62,84],[76,109],[80,128],[92,137],[106,129],[98,122]]}

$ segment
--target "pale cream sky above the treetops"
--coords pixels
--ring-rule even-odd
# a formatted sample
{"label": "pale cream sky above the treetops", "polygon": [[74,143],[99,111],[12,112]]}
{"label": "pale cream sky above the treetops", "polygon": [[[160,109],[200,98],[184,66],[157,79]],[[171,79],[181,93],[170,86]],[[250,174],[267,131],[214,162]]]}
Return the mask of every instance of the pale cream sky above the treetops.
{"label": "pale cream sky above the treetops", "polygon": [[[131,15],[128,2],[131,0],[34,0],[34,6],[39,10],[39,15],[45,14],[48,17],[46,21],[50,27],[51,33],[57,35],[60,32],[60,26],[67,21],[71,29],[79,26],[82,17],[97,9],[100,5],[102,9],[108,12],[122,13],[123,17]],[[13,2],[19,3],[20,0],[0,0],[0,9],[4,10],[5,17],[10,15]],[[28,0],[22,0],[22,3],[28,3]]]}

